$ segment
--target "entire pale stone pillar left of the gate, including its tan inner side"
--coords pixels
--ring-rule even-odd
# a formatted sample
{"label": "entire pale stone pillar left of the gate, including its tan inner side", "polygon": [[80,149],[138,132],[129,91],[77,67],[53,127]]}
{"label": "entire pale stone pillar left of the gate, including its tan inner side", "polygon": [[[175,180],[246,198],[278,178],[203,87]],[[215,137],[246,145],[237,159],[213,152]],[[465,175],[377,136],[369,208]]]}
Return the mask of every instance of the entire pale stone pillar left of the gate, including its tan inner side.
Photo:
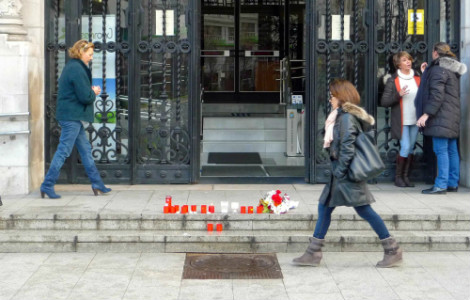
{"label": "entire pale stone pillar left of the gate, including its tan inner side", "polygon": [[0,194],[44,174],[44,0],[0,2]]}

